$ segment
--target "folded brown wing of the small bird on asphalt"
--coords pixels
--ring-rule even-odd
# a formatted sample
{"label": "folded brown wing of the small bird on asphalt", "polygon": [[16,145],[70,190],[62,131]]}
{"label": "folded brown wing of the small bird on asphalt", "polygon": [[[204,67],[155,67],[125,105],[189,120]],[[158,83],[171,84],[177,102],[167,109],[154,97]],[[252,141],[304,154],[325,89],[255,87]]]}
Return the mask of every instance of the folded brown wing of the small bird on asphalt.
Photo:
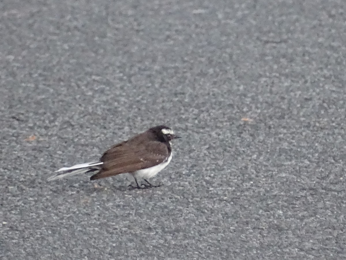
{"label": "folded brown wing of the small bird on asphalt", "polygon": [[120,143],[102,155],[102,169],[90,179],[96,180],[153,167],[163,162],[168,154],[168,147],[157,141],[144,141],[137,145],[130,145],[129,142]]}

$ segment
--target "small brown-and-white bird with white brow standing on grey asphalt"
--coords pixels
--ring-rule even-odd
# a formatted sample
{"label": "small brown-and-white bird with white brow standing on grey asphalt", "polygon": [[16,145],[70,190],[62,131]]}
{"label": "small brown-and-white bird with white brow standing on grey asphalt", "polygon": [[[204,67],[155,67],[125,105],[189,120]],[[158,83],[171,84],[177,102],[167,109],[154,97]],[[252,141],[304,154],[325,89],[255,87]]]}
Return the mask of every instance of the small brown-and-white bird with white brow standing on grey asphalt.
{"label": "small brown-and-white bird with white brow standing on grey asphalt", "polygon": [[[148,179],[156,176],[171,162],[171,141],[177,138],[181,137],[175,135],[170,127],[154,126],[127,141],[111,146],[99,161],[63,167],[55,171],[57,173],[49,177],[48,181],[83,173],[93,173],[90,180],[129,173],[136,181],[133,188],[160,187],[162,184],[153,185]],[[139,185],[139,179],[146,183]]]}

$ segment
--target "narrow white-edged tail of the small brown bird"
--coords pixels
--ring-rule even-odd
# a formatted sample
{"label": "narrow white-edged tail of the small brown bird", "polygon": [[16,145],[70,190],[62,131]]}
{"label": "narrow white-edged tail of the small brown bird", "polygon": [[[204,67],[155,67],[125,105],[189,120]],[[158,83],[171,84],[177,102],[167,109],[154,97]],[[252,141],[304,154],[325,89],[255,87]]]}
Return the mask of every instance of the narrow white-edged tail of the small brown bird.
{"label": "narrow white-edged tail of the small brown bird", "polygon": [[70,177],[76,174],[99,171],[100,170],[99,165],[101,164],[103,164],[103,162],[87,162],[87,163],[76,164],[71,167],[63,167],[55,171],[60,173],[57,173],[49,177],[47,180],[52,181],[52,180],[62,179],[65,177]]}

